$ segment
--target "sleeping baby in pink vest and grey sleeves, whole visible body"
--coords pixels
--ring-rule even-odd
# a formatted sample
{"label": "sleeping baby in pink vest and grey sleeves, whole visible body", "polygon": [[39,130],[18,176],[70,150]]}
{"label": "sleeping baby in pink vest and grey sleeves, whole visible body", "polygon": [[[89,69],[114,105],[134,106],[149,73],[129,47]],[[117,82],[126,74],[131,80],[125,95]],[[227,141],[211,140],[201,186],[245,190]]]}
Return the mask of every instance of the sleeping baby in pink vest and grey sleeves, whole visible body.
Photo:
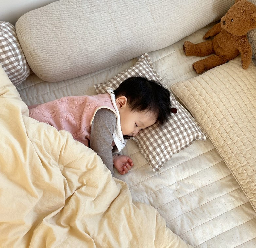
{"label": "sleeping baby in pink vest and grey sleeves, whole visible body", "polygon": [[126,140],[171,114],[170,93],[159,82],[144,77],[124,80],[116,90],[93,96],[67,96],[29,106],[29,116],[66,130],[93,149],[113,175],[128,173],[132,159],[117,154]]}

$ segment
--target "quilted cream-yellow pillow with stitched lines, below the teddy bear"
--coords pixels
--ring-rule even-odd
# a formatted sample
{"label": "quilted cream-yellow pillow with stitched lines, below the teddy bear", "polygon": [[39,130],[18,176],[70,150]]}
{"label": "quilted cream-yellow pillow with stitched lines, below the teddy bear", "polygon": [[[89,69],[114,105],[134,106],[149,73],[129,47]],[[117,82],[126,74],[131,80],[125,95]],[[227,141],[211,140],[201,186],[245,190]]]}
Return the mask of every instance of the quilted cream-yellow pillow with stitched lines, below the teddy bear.
{"label": "quilted cream-yellow pillow with stitched lines, below the teddy bear", "polygon": [[171,86],[230,168],[256,211],[256,66],[241,58]]}

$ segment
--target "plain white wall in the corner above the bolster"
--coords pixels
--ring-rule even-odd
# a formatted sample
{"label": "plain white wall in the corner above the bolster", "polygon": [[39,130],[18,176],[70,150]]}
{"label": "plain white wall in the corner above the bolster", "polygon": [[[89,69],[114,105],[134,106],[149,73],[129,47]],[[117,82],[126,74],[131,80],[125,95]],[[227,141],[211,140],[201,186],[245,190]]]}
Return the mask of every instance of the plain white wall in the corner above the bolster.
{"label": "plain white wall in the corner above the bolster", "polygon": [[0,0],[0,21],[15,25],[26,12],[43,7],[56,0]]}

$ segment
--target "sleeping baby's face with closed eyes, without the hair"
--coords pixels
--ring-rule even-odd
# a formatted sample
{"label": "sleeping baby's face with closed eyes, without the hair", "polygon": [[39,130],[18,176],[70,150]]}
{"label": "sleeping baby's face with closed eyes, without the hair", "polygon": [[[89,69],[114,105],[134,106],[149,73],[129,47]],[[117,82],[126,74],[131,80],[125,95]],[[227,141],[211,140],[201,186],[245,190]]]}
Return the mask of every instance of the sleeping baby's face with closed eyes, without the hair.
{"label": "sleeping baby's face with closed eyes, without the hair", "polygon": [[131,111],[128,105],[119,109],[123,135],[135,136],[141,129],[156,122],[156,117],[148,111]]}

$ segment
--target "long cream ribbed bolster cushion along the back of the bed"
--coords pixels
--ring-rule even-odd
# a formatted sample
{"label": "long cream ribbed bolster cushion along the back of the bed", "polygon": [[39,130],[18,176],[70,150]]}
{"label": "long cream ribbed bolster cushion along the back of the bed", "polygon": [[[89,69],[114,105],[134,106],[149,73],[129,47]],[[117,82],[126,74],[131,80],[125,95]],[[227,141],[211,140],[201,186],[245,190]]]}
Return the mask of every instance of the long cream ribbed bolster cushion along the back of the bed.
{"label": "long cream ribbed bolster cushion along the back of the bed", "polygon": [[20,17],[16,32],[32,71],[55,82],[171,45],[219,20],[233,2],[60,0]]}

